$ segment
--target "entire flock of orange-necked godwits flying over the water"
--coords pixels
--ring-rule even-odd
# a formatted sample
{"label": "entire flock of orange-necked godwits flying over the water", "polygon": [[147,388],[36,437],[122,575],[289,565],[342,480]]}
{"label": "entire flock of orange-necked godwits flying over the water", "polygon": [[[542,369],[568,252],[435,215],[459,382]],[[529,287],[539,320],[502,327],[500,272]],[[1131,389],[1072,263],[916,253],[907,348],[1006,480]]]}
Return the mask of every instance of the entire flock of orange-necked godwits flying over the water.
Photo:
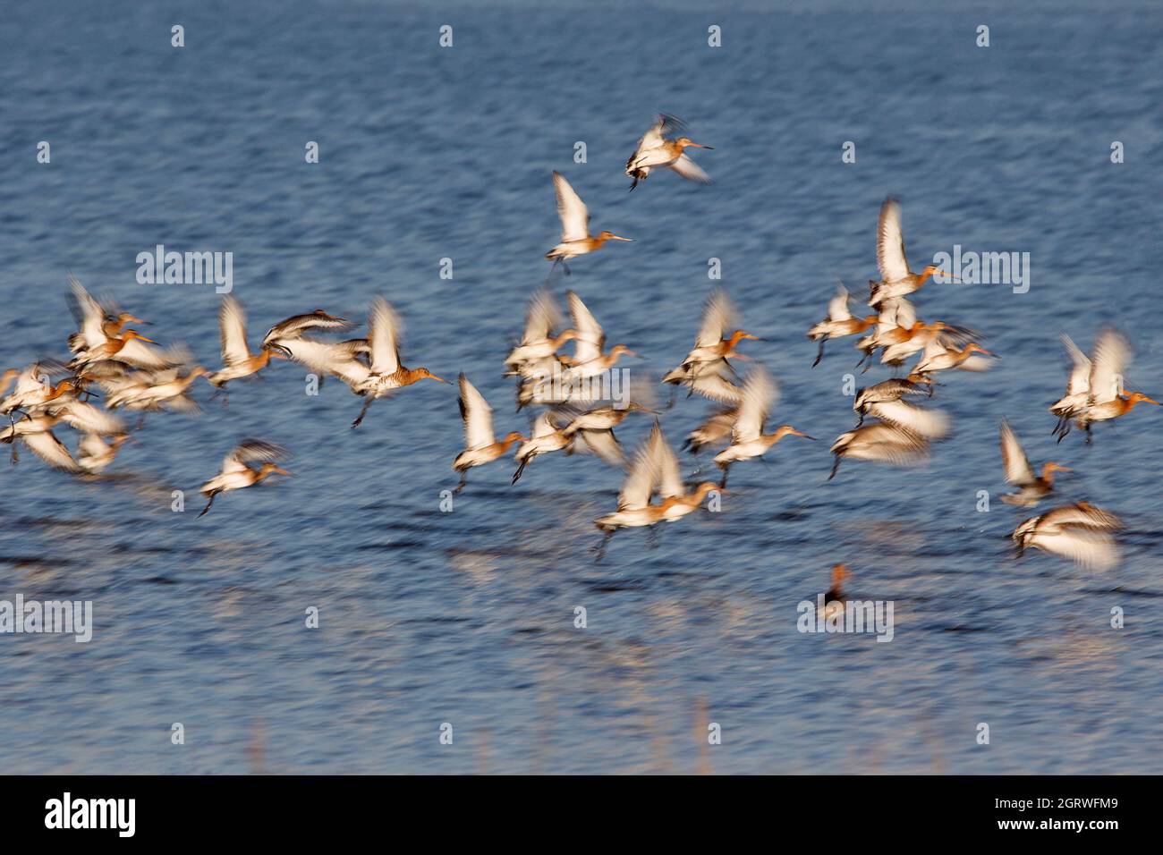
{"label": "entire flock of orange-necked godwits flying over the water", "polygon": [[[711,147],[686,136],[668,136],[683,128],[673,116],[657,117],[627,162],[632,191],[659,169],[669,169],[688,180],[709,181],[685,150]],[[552,173],[552,179],[562,237],[545,257],[555,268],[561,264],[570,275],[568,261],[597,251],[608,241],[630,240],[611,231],[591,236],[590,214],[582,198],[558,172]],[[852,405],[857,423],[832,444],[835,461],[829,480],[843,459],[898,465],[925,459],[932,443],[946,439],[950,430],[947,413],[921,402],[933,398],[935,386],[943,385],[935,377],[950,371],[987,370],[996,358],[978,344],[976,340],[982,336],[973,330],[942,321],[926,323],[918,318],[909,295],[929,277],[948,273],[934,265],[918,273],[912,271],[905,256],[900,206],[892,198],[880,208],[877,266],[879,279],[869,282],[870,313],[851,314],[851,295],[841,283],[825,320],[807,333],[812,341],[819,342],[813,366],[823,358],[828,341],[858,335],[856,348],[862,358],[857,365],[864,365],[866,372],[879,352],[880,363],[892,368],[894,375],[857,391]],[[211,371],[194,364],[185,348],[163,348],[129,327],[144,321],[94,300],[76,278],[70,277],[70,285],[79,325],[67,339],[71,357],[41,359],[0,376],[0,414],[9,421],[0,432],[0,441],[12,443],[13,463],[17,461],[19,441],[57,469],[80,477],[101,477],[131,436],[117,411],[138,413],[138,428],[145,413],[197,411],[190,391],[198,378],[205,377],[214,386],[215,396],[226,396],[228,384],[258,375],[272,358],[293,361],[320,377],[337,378],[363,398],[352,428],[363,422],[369,407],[379,398],[393,396],[421,379],[448,383],[426,368],[409,369],[402,364],[402,322],[379,297],[371,305],[366,337],[345,341],[320,337],[349,330],[354,325],[316,309],[276,323],[263,336],[258,350],[251,352],[242,306],[228,295],[219,312],[222,366]],[[541,408],[528,436],[513,430],[497,440],[492,407],[468,377],[459,375],[465,448],[452,463],[461,475],[457,492],[464,489],[469,470],[505,457],[513,446],[518,464],[513,483],[536,457],[554,451],[590,453],[606,463],[623,466],[626,478],[616,510],[595,520],[602,532],[602,540],[594,548],[600,560],[608,540],[619,529],[673,522],[698,510],[708,494],[723,492],[733,464],[763,458],[786,436],[814,439],[791,425],[768,429],[778,385],[758,363],[745,377],[739,376],[733,363],[752,361],[737,348],[744,341],[762,340],[736,327],[737,313],[727,293],[719,290],[704,307],[694,345],[662,383],[673,392],[685,389],[687,398],[698,394],[715,402],[709,418],[687,436],[685,448],[695,456],[715,449],[713,461],[721,472],[720,479],[684,483],[678,457],[657,418],[648,439],[628,461],[614,428],[632,413],[657,416],[661,411],[649,405],[652,396],[641,385],[629,400],[613,402],[609,384],[601,380],[621,356],[637,354],[625,344],[607,349],[606,334],[582,298],[569,291],[566,300],[569,327],[563,326],[559,307],[548,287],[535,293],[521,340],[505,359],[506,376],[516,378],[518,409]],[[1160,404],[1142,392],[1125,392],[1122,376],[1132,351],[1118,330],[1103,329],[1089,357],[1069,337],[1062,337],[1071,369],[1065,394],[1050,407],[1058,420],[1054,430],[1058,442],[1077,427],[1085,432],[1089,443],[1093,423],[1121,418],[1139,402]],[[565,354],[563,348],[569,343],[572,352]],[[902,377],[898,376],[913,357],[916,362]],[[672,393],[668,406],[673,405]],[[53,434],[62,425],[81,434],[76,455]],[[1009,504],[1036,505],[1053,493],[1054,473],[1069,471],[1058,463],[1047,462],[1035,473],[1005,421],[1000,426],[1000,447],[1005,478],[1016,487],[1003,497]],[[200,492],[207,497],[201,514],[223,492],[252,486],[271,475],[290,476],[279,465],[287,455],[286,449],[274,443],[242,442],[226,456],[221,472],[201,486]],[[1083,565],[1106,568],[1118,560],[1113,533],[1119,527],[1118,518],[1110,512],[1079,501],[1025,520],[1013,530],[1012,539],[1019,555],[1037,548]],[[832,599],[841,598],[839,583],[847,575],[847,569],[833,573]]]}

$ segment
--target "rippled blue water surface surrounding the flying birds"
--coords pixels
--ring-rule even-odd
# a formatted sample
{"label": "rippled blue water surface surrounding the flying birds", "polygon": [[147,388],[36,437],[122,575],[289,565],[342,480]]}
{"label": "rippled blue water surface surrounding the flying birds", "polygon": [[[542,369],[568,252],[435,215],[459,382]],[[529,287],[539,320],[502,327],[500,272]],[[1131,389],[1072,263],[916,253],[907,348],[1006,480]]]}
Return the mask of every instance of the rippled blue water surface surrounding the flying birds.
{"label": "rippled blue water surface surrounding the flying birds", "polygon": [[[316,307],[363,319],[385,294],[407,364],[465,371],[498,430],[523,429],[501,359],[548,273],[558,169],[598,228],[635,238],[554,283],[649,359],[628,368],[652,379],[677,364],[720,258],[744,325],[771,340],[745,352],[782,385],[776,423],[820,441],[737,465],[721,513],[656,546],[619,534],[595,564],[592,521],[620,477],[593,459],[543,457],[512,487],[509,462],[478,469],[440,511],[462,448],[455,387],[405,390],[350,430],[361,401],[335,382],[306,396],[284,362],[236,384],[228,408],[198,384],[201,414],[150,416],[110,470],[150,490],[27,453],[2,464],[0,599],[90,599],[95,628],[88,644],[0,636],[0,768],[1160,771],[1163,413],[1142,405],[1091,447],[1073,434],[1055,448],[1046,407],[1065,380],[1058,332],[1089,348],[1106,321],[1135,342],[1127,386],[1163,394],[1163,19],[1149,2],[702,6],[6,10],[0,368],[65,355],[70,271],[216,365],[213,287],[135,282],[137,252],[162,243],[234,254],[252,342]],[[722,48],[706,45],[712,23]],[[627,193],[622,164],[656,111],[714,147],[695,154],[714,185],[656,174]],[[855,164],[841,163],[849,140]],[[980,329],[997,369],[939,391],[956,427],[927,465],[848,462],[825,483],[828,444],[852,425],[856,352],[834,342],[811,369],[804,333],[837,277],[864,293],[889,193],[914,266],[958,243],[1025,251],[1032,287],[926,285],[922,316]],[[679,399],[670,441],[709,408]],[[1121,565],[1013,560],[1007,535],[1028,514],[997,500],[1003,415],[1035,462],[1075,468],[1063,500],[1123,518]],[[623,425],[627,448],[649,423]],[[194,519],[198,486],[251,435],[291,448],[295,477]],[[839,561],[851,596],[894,600],[891,643],[797,632],[797,603]],[[707,721],[722,744],[707,746]]]}

